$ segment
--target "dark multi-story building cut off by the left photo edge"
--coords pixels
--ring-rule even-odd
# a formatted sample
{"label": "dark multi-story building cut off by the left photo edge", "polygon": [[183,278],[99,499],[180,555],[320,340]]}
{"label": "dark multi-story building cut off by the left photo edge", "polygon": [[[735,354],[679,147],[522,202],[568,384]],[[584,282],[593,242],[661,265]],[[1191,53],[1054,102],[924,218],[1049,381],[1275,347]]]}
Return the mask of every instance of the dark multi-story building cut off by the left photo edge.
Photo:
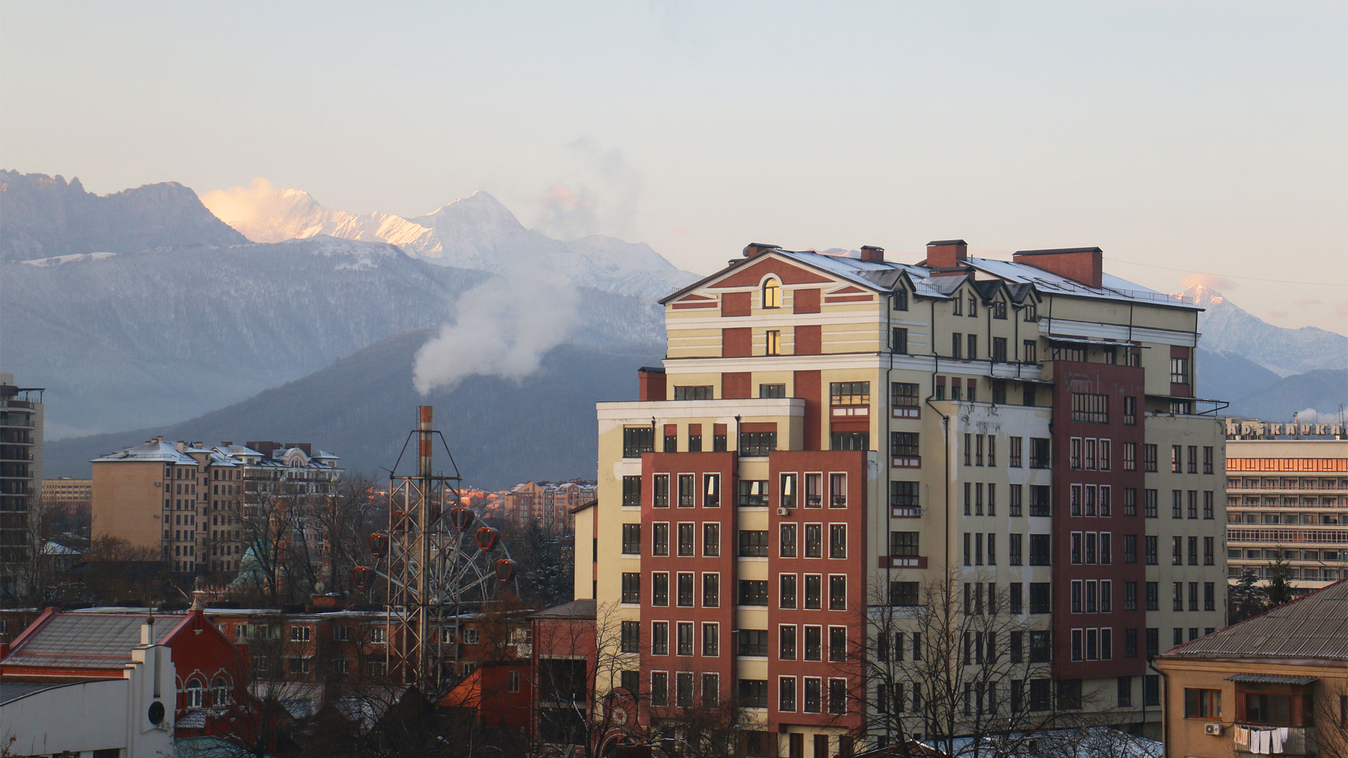
{"label": "dark multi-story building cut off by the left photo edge", "polygon": [[19,587],[34,548],[32,513],[42,482],[43,405],[40,387],[20,387],[0,374],[0,600]]}

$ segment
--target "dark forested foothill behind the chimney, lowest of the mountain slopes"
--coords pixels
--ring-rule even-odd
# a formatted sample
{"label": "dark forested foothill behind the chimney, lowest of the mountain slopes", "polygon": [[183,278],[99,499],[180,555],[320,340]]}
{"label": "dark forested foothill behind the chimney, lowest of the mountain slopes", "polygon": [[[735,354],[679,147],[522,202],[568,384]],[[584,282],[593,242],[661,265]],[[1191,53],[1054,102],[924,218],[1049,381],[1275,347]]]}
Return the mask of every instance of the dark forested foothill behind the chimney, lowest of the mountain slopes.
{"label": "dark forested foothill behind the chimney, lowest of the mountain slopes", "polygon": [[[417,349],[433,329],[392,334],[295,382],[190,421],[49,442],[49,476],[88,476],[89,460],[155,434],[170,440],[302,440],[341,456],[348,469],[383,475],[415,425],[418,405],[435,406],[466,482],[506,487],[520,479],[594,475],[594,403],[635,399],[636,368],[661,347],[597,351],[562,345],[520,382],[473,376],[453,391],[412,390]],[[439,465],[448,465],[437,448]],[[407,465],[407,460],[403,465]]]}

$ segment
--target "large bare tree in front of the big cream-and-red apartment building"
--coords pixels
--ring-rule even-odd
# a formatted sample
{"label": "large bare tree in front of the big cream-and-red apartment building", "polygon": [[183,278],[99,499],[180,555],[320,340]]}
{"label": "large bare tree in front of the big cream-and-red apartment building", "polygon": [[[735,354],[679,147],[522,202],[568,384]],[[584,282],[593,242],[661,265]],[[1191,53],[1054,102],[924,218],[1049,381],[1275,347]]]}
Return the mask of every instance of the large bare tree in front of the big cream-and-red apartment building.
{"label": "large bare tree in front of the big cream-and-red apartment building", "polygon": [[859,745],[919,755],[910,742],[919,739],[949,757],[1031,755],[1037,735],[1088,722],[1097,693],[1054,682],[1049,631],[1011,612],[988,579],[952,569],[869,588],[857,619],[864,642],[842,664],[863,682],[848,708],[861,715]]}

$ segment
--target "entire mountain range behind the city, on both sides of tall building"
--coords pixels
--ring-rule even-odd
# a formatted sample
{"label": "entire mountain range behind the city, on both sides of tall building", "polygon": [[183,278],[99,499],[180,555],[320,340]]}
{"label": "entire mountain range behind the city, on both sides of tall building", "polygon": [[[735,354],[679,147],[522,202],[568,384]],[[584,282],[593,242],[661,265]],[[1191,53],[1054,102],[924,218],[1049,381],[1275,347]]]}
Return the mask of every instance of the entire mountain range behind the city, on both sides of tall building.
{"label": "entire mountain range behind the city, on both sides of tall building", "polygon": [[[655,299],[696,276],[643,244],[546,237],[487,193],[400,217],[256,185],[208,193],[208,209],[171,182],[100,197],[78,179],[3,179],[0,368],[47,387],[47,476],[86,476],[90,457],[155,434],[306,440],[373,472],[425,402],[476,484],[590,476],[593,403],[631,398],[635,368],[665,352]],[[523,276],[557,297],[512,302]],[[1290,419],[1348,401],[1348,337],[1188,294],[1206,309],[1198,394],[1231,401],[1225,414]],[[530,345],[537,372],[419,395],[418,351],[464,302],[574,309],[574,328]]]}

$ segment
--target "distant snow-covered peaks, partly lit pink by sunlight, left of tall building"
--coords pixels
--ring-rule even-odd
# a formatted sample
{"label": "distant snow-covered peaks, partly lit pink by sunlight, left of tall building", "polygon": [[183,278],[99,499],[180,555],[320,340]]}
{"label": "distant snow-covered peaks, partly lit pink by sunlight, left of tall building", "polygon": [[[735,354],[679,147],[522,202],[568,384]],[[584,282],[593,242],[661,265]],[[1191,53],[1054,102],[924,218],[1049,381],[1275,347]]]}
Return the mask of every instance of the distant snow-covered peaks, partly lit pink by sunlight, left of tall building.
{"label": "distant snow-covered peaks, partly lit pink by sunlight, left of tall building", "polygon": [[417,217],[377,212],[355,216],[325,208],[303,190],[274,190],[264,182],[249,189],[210,192],[202,201],[253,241],[314,235],[387,241],[438,266],[493,274],[528,270],[573,285],[652,299],[698,279],[646,244],[600,235],[572,241],[547,237],[526,228],[485,192]]}

